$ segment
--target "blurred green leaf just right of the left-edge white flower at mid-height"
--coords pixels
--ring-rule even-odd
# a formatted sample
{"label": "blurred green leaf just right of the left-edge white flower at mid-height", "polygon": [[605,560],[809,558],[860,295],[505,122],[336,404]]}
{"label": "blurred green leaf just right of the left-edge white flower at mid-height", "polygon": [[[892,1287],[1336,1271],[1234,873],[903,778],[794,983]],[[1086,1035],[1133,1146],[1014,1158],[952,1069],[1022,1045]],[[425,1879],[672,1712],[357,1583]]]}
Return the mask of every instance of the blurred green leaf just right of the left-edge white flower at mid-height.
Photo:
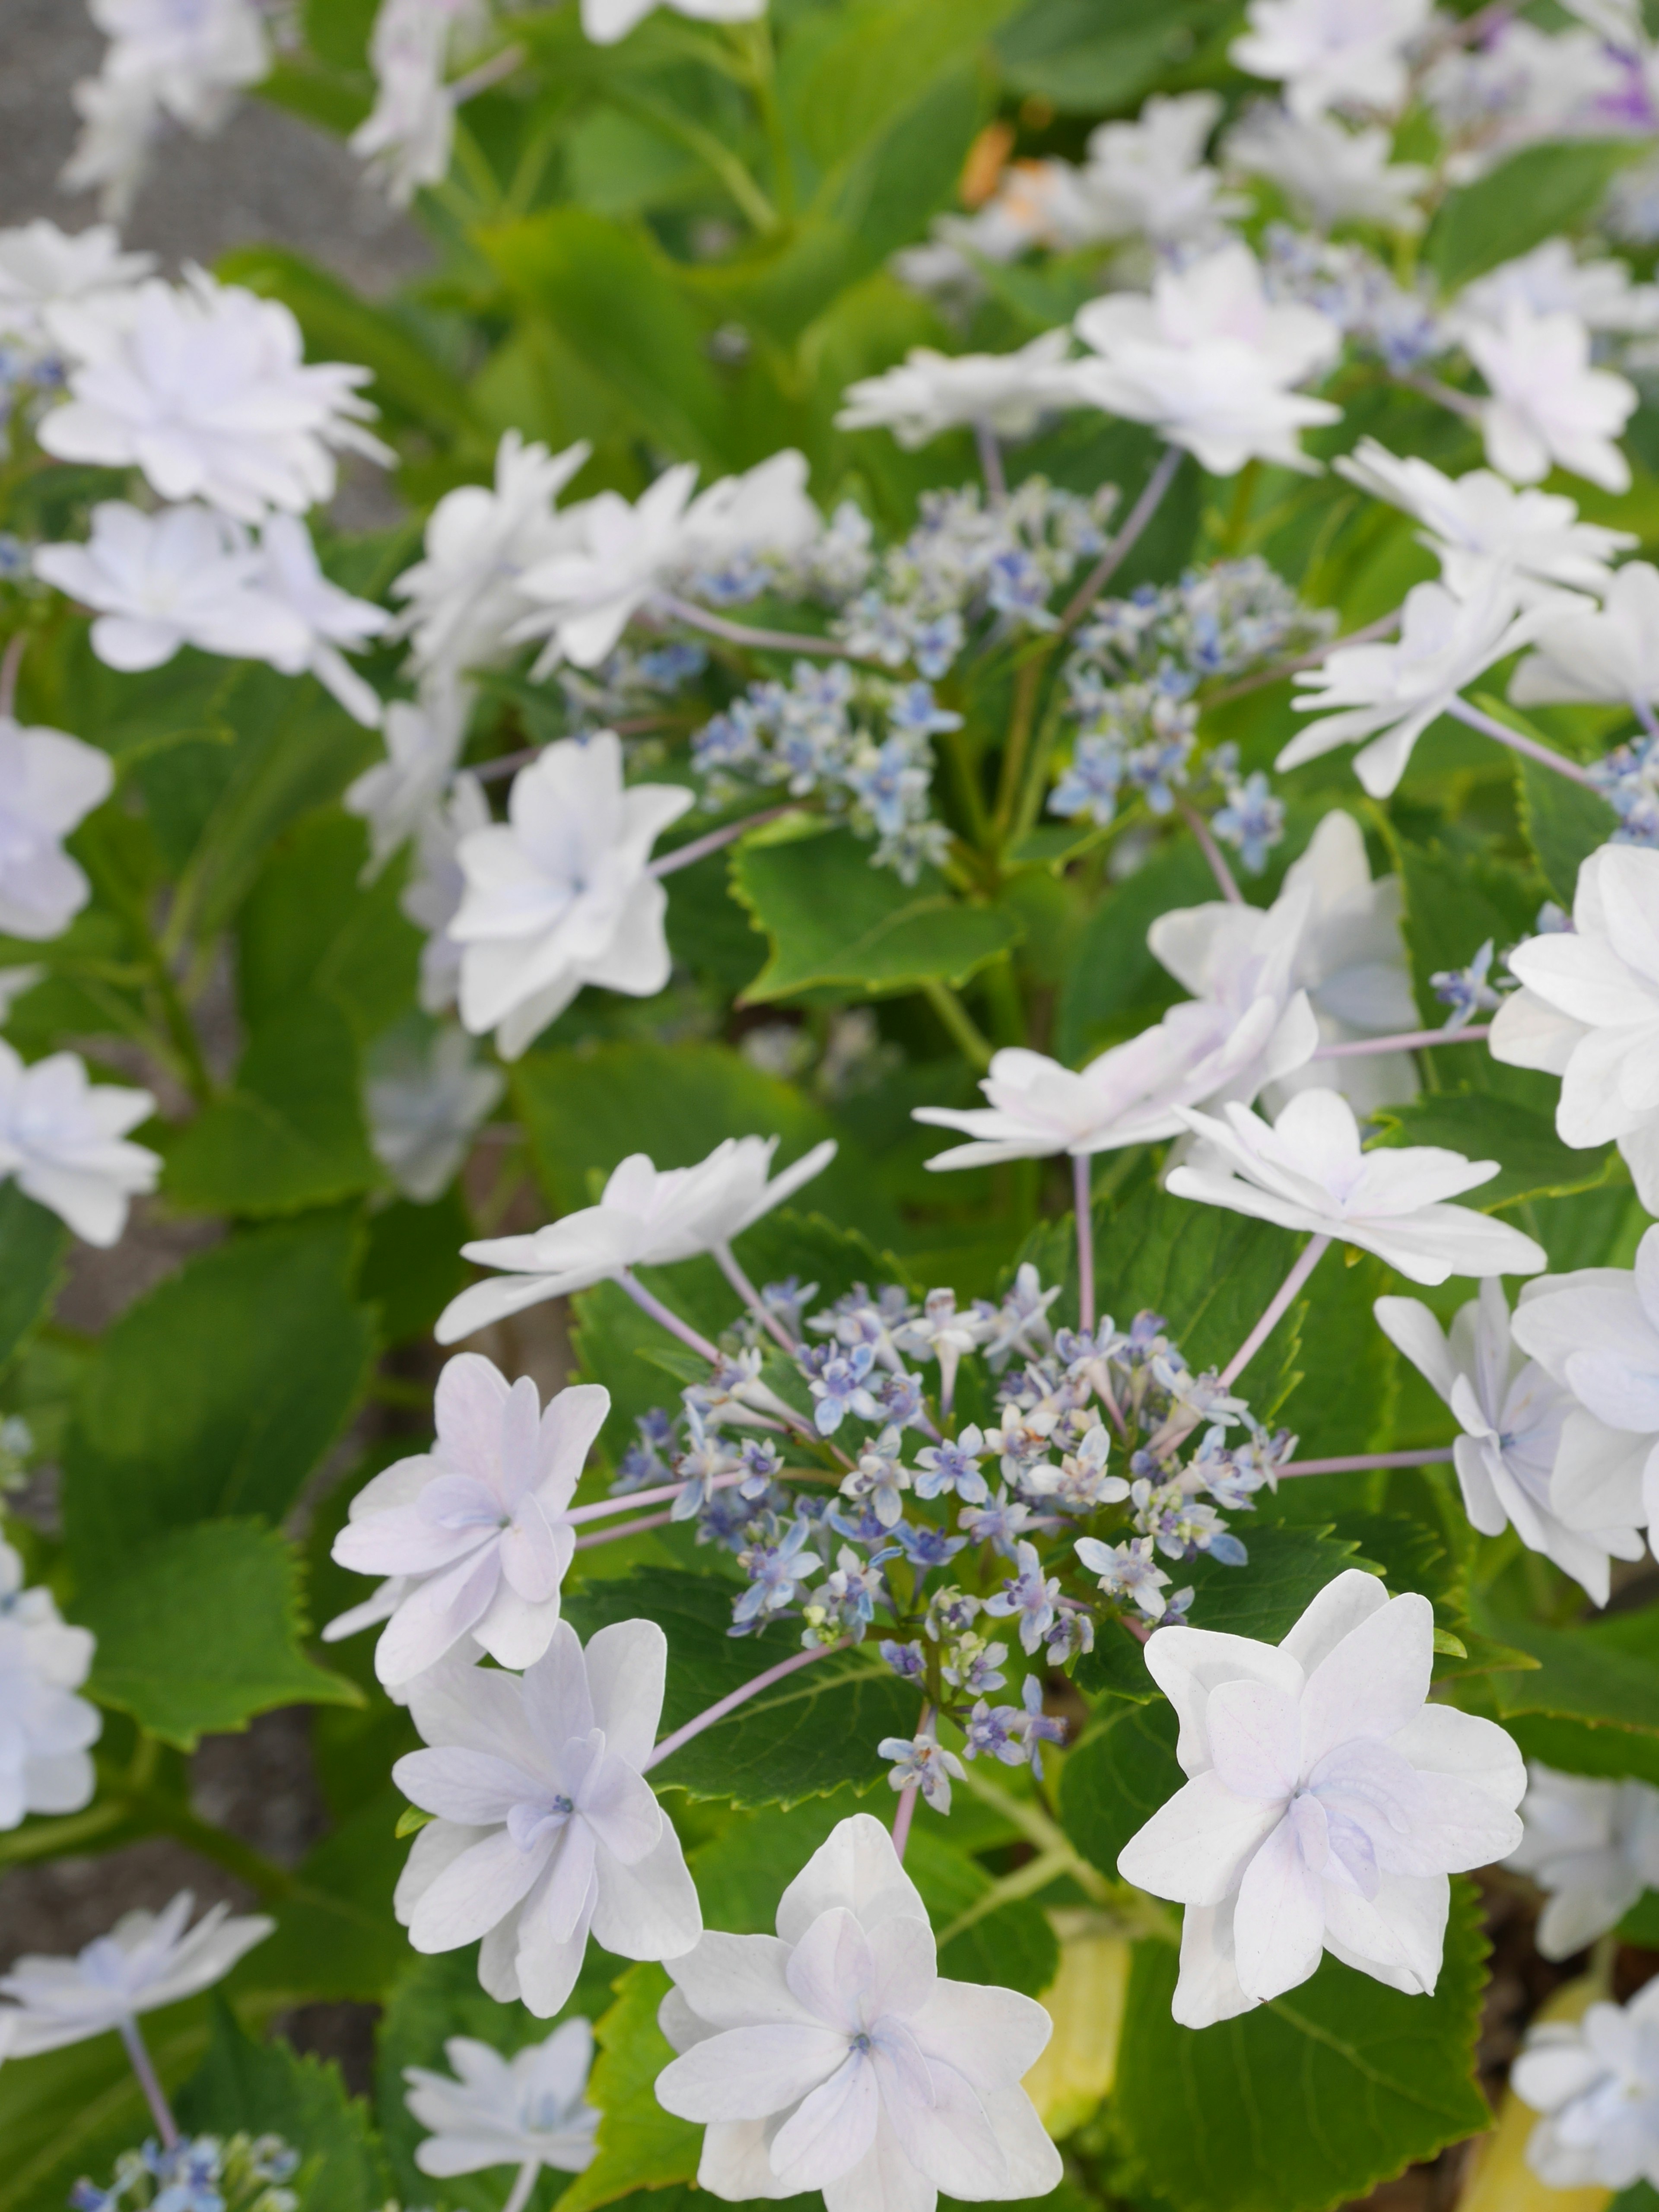
{"label": "blurred green leaf just right of the left-edge white flower at mid-height", "polygon": [[168,1146],[164,1188],[186,1212],[296,1214],[380,1181],[352,1024],[299,998],[248,1040],[234,1088]]}

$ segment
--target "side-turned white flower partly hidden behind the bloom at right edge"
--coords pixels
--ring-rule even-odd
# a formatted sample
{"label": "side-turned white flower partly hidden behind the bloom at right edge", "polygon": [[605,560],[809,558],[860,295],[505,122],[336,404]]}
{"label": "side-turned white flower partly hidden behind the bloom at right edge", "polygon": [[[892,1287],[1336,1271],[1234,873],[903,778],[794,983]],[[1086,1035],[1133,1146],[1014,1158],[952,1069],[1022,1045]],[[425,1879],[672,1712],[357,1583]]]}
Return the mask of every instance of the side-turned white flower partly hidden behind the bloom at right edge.
{"label": "side-turned white flower partly hidden behind the bloom at right edge", "polygon": [[1486,1279],[1480,1298],[1458,1307],[1449,1334],[1420,1298],[1378,1298],[1376,1318],[1458,1416],[1462,1436],[1451,1449],[1471,1524],[1482,1535],[1513,1524],[1528,1551],[1542,1551],[1606,1606],[1613,1559],[1639,1559],[1641,1533],[1568,1528],[1555,1511],[1551,1475],[1575,1400],[1515,1345],[1502,1285]]}

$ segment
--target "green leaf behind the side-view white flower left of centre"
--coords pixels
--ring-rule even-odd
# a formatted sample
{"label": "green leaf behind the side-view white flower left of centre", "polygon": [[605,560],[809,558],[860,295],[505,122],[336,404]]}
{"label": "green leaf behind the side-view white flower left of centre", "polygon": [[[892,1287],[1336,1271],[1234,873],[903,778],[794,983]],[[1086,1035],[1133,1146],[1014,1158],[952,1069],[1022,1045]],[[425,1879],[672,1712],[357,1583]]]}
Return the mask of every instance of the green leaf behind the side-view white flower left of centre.
{"label": "green leaf behind the side-view white flower left of centre", "polygon": [[803,1186],[799,1203],[883,1243],[898,1230],[830,1115],[726,1044],[526,1053],[513,1068],[513,1104],[560,1212],[591,1206],[593,1170],[604,1177],[630,1152],[648,1152],[659,1168],[690,1168],[726,1137],[779,1137],[776,1172],[836,1137],[836,1159]]}

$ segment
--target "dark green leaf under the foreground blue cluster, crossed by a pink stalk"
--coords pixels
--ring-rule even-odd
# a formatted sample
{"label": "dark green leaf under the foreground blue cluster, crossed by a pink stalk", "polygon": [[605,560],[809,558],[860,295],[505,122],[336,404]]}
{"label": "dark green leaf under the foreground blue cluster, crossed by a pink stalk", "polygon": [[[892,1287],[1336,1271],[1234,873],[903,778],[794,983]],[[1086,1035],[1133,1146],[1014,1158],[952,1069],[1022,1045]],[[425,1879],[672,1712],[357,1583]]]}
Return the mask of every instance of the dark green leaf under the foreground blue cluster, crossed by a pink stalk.
{"label": "dark green leaf under the foreground blue cluster, crossed by a pink stalk", "polygon": [[[566,1590],[564,1617],[586,1639],[611,1621],[650,1619],[668,1635],[661,1732],[787,1659],[781,1637],[730,1637],[737,1584],[675,1568],[619,1575]],[[869,1787],[887,1772],[883,1736],[914,1736],[916,1692],[854,1646],[814,1659],[739,1705],[726,1721],[653,1770],[659,1790],[734,1805],[794,1805],[843,1783]]]}

